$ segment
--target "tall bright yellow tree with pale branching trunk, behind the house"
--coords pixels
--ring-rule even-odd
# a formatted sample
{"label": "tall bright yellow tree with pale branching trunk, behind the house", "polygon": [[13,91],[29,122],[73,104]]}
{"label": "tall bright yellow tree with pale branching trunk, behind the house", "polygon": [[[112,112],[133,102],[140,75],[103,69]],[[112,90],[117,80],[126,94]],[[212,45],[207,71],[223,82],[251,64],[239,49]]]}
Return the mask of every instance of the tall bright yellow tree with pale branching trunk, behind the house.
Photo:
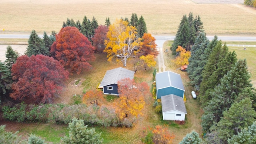
{"label": "tall bright yellow tree with pale branching trunk, behind the house", "polygon": [[136,38],[136,28],[128,24],[127,21],[120,19],[108,27],[104,50],[108,54],[109,61],[119,54],[124,66],[126,66],[128,58],[136,55],[141,41],[141,38]]}

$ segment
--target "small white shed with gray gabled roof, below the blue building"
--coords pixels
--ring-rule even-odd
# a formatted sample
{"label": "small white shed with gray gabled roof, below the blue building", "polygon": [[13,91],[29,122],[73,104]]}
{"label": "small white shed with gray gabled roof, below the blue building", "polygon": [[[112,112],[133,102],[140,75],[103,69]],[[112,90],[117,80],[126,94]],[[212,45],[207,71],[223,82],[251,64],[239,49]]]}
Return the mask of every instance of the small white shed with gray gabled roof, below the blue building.
{"label": "small white shed with gray gabled roof, below the blue building", "polygon": [[183,98],[174,94],[161,96],[163,120],[185,120],[187,114]]}

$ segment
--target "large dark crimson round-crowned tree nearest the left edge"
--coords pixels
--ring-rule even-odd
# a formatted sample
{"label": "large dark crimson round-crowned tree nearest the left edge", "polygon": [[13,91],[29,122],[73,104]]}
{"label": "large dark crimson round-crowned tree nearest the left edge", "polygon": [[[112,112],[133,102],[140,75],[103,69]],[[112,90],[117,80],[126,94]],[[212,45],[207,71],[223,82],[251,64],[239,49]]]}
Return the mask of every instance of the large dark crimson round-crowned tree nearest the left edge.
{"label": "large dark crimson round-crowned tree nearest the left edge", "polygon": [[58,96],[68,79],[68,71],[57,60],[49,56],[26,55],[17,58],[12,65],[14,100],[29,98],[33,103],[51,102],[54,96]]}

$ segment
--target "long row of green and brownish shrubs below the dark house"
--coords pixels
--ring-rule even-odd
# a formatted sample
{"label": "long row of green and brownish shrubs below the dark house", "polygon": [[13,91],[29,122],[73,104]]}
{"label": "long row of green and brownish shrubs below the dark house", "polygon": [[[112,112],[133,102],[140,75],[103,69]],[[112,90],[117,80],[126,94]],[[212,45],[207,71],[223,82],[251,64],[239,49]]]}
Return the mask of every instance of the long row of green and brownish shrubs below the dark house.
{"label": "long row of green and brownish shrubs below the dark house", "polygon": [[72,118],[84,120],[88,126],[126,126],[131,127],[134,119],[120,120],[113,108],[105,106],[85,104],[42,104],[27,105],[24,102],[14,107],[4,106],[2,108],[3,118],[14,122],[39,122],[68,124]]}

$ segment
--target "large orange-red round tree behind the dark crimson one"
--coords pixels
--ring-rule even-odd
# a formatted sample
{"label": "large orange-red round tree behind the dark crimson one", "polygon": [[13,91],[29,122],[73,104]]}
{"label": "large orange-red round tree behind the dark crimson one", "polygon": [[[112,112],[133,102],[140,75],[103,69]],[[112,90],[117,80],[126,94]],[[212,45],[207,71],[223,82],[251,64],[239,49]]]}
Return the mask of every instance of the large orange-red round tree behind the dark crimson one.
{"label": "large orange-red round tree behind the dark crimson one", "polygon": [[94,47],[86,36],[76,27],[62,28],[56,35],[56,41],[51,46],[51,54],[69,71],[80,74],[82,69],[88,70],[92,66],[89,61],[95,60]]}

